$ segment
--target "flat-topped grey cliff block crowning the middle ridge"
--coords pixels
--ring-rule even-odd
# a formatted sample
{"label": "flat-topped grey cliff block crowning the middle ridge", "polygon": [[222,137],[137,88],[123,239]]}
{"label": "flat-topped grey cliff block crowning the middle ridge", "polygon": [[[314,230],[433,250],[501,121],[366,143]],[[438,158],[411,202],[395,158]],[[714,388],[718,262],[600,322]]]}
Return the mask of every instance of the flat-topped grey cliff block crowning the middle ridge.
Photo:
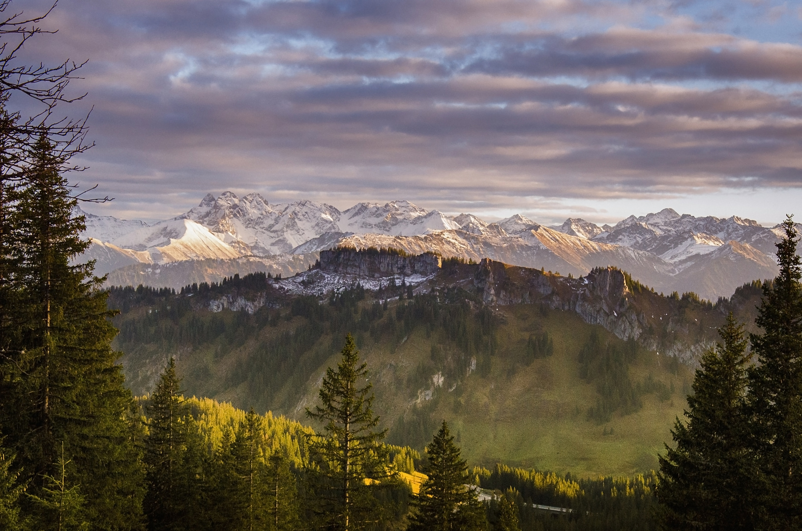
{"label": "flat-topped grey cliff block crowning the middle ridge", "polygon": [[395,251],[375,249],[331,249],[320,252],[320,269],[328,273],[350,274],[363,278],[403,275],[427,277],[442,266],[442,259],[433,253],[410,256]]}

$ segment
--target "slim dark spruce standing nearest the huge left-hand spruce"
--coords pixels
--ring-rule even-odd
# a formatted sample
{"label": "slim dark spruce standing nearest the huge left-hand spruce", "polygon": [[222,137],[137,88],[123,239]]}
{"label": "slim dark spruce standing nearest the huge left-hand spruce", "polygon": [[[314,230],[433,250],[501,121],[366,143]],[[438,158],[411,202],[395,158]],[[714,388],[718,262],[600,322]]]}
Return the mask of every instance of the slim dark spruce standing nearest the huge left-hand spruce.
{"label": "slim dark spruce standing nearest the huge left-hand spruce", "polygon": [[144,453],[148,484],[144,508],[148,528],[153,531],[180,529],[186,503],[182,484],[188,409],[172,358],[156,384],[148,413],[149,432]]}

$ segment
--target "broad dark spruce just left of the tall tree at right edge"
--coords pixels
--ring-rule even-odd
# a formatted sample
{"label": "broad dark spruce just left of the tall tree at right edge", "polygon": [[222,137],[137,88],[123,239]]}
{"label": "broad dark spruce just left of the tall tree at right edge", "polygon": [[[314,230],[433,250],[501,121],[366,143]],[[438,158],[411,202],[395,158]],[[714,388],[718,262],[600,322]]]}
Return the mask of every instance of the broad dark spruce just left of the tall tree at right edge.
{"label": "broad dark spruce just left of the tall tree at right edge", "polygon": [[743,325],[732,314],[721,341],[705,352],[688,396],[687,421],[677,419],[659,457],[658,501],[665,529],[751,529],[744,503],[755,474],[748,444],[747,365]]}

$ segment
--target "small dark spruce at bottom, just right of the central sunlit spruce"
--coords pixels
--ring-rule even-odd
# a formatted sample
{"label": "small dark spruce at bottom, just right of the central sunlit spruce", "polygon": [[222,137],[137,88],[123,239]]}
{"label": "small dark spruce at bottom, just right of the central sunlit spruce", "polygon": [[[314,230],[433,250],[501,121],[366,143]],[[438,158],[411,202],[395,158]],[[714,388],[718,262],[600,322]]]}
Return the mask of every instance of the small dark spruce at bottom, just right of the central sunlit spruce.
{"label": "small dark spruce at bottom, just right of the central sunlit spruce", "polygon": [[469,485],[468,465],[443,421],[426,447],[427,480],[412,499],[414,511],[407,531],[472,531],[487,527],[484,505]]}

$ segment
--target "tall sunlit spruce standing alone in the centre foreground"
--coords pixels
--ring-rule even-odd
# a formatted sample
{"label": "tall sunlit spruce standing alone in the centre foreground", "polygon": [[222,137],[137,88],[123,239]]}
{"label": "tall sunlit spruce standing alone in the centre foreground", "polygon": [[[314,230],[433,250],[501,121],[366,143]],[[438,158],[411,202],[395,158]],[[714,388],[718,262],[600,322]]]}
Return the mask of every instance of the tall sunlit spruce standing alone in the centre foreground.
{"label": "tall sunlit spruce standing alone in the centre foreground", "polygon": [[368,484],[388,476],[379,444],[387,430],[376,431],[379,417],[373,414],[372,385],[363,384],[367,376],[367,363],[359,363],[359,351],[348,334],[337,368],[326,370],[321,404],[314,411],[306,409],[310,419],[323,424],[322,436],[309,440],[319,465],[322,514],[333,529],[342,531],[375,523],[375,498]]}

